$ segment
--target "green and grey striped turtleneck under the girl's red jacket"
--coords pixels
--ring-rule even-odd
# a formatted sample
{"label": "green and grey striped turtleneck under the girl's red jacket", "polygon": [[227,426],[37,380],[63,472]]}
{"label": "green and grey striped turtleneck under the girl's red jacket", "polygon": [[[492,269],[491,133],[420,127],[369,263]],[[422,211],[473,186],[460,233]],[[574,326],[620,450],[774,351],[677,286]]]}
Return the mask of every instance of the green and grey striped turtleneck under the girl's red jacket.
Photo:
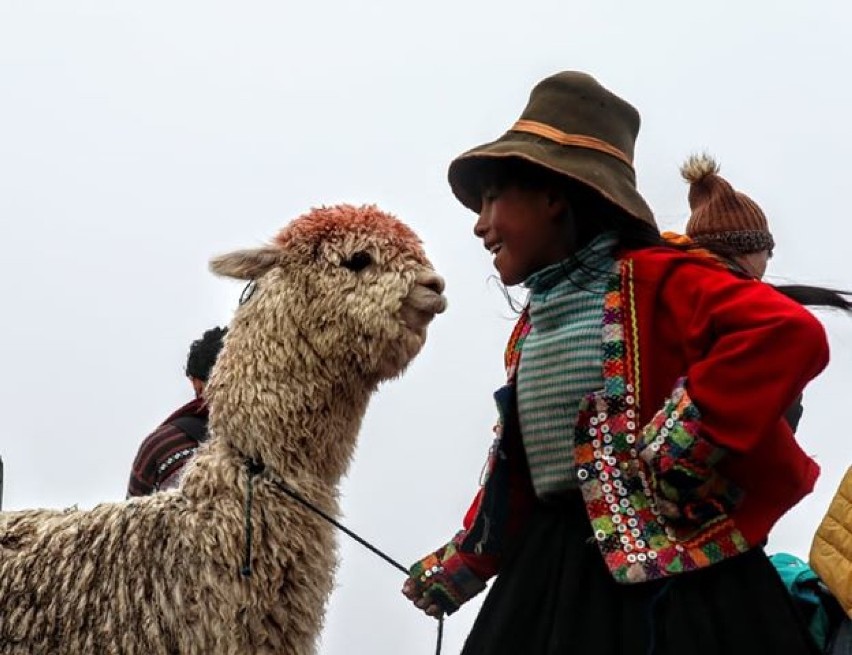
{"label": "green and grey striped turtleneck under the girl's red jacket", "polygon": [[573,257],[533,274],[518,369],[518,413],[539,497],[577,486],[574,427],[580,400],[603,388],[604,292],[616,238],[598,236]]}

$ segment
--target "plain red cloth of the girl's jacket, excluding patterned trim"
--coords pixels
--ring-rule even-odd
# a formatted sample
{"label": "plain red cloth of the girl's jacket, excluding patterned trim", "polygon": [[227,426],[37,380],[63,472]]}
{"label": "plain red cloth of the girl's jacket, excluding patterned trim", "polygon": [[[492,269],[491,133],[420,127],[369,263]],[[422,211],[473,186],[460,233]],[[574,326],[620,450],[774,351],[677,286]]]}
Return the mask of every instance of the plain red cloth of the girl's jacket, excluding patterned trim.
{"label": "plain red cloth of the girl's jacket, excluding patterned trim", "polygon": [[784,413],[828,364],[822,324],[772,287],[712,262],[667,249],[629,256],[645,362],[642,419],[685,375],[702,434],[727,451],[720,472],[744,491],[732,518],[757,545],[819,475]]}

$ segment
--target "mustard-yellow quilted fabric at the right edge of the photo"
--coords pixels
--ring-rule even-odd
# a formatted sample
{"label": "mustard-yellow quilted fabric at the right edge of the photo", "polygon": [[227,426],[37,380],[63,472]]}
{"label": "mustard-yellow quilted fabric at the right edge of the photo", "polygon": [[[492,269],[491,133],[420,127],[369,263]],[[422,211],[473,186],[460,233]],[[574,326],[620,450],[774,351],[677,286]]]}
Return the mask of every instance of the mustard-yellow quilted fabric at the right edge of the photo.
{"label": "mustard-yellow quilted fabric at the right edge of the photo", "polygon": [[852,467],[817,528],[810,564],[852,617]]}

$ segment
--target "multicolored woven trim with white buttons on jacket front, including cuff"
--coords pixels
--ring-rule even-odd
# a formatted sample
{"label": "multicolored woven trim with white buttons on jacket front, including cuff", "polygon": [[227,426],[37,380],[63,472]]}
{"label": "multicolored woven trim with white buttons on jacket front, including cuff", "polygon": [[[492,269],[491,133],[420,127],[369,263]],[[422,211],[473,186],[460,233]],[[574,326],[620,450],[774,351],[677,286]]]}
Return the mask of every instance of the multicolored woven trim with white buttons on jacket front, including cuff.
{"label": "multicolored woven trim with white buttons on jacket front, including cuff", "polygon": [[722,452],[699,436],[698,409],[683,385],[637,429],[633,307],[632,267],[624,262],[604,301],[604,389],[581,403],[575,434],[577,477],[595,539],[622,583],[697,569],[748,549],[725,513],[737,494],[713,469]]}

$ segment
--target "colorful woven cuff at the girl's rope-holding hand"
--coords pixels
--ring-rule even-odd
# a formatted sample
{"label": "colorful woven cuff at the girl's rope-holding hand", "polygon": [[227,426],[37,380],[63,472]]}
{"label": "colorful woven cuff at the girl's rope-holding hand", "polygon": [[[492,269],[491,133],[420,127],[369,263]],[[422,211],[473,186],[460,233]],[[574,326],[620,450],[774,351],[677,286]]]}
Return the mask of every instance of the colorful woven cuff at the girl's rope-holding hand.
{"label": "colorful woven cuff at the girl's rope-holding hand", "polygon": [[446,546],[409,569],[418,593],[429,596],[448,615],[485,589],[485,583],[459,556],[456,542],[464,536],[464,532],[459,532]]}

